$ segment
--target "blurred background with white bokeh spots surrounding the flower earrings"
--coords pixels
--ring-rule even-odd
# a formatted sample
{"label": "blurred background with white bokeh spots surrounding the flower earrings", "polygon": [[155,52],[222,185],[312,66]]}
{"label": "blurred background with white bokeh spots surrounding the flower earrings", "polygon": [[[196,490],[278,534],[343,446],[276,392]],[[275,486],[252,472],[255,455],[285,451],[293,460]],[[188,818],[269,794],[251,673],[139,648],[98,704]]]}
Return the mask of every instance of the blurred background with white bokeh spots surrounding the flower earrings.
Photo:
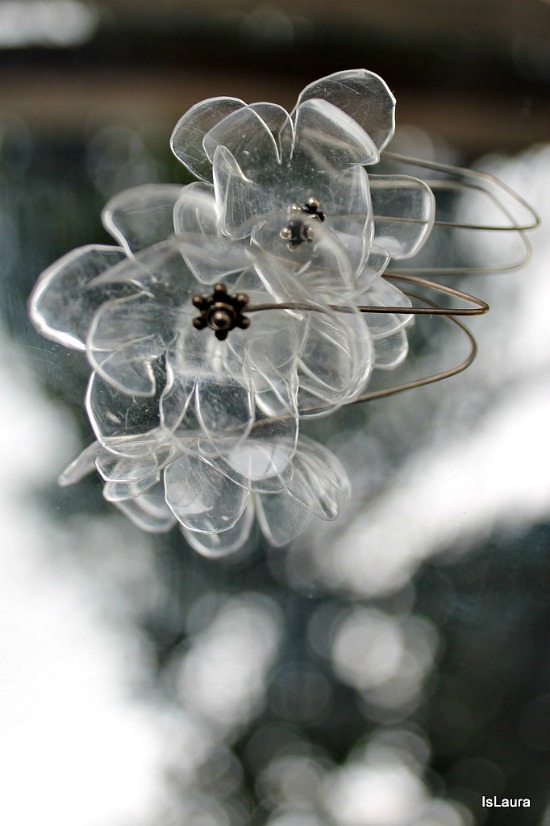
{"label": "blurred background with white bokeh spots surrounding the flower earrings", "polygon": [[[60,490],[87,367],[31,328],[39,273],[108,241],[115,192],[188,180],[193,103],[292,107],[356,67],[397,97],[392,148],[542,216],[521,271],[464,281],[475,364],[323,423],[353,500],[285,549],[203,559],[97,479]],[[549,826],[548,142],[544,0],[0,0],[1,823]],[[417,328],[412,369],[459,354]]]}

